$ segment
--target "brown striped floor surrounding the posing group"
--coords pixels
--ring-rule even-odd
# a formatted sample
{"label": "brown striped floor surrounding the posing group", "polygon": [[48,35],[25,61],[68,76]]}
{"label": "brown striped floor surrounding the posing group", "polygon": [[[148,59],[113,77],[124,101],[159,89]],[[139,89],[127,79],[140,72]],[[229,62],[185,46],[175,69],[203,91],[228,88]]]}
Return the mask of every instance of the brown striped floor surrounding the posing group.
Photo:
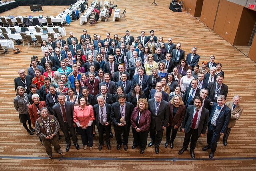
{"label": "brown striped floor surrounding the posing group", "polygon": [[[91,3],[92,0],[89,0]],[[74,36],[80,38],[83,29],[88,34],[101,34],[110,32],[111,37],[118,34],[119,38],[130,30],[132,36],[140,36],[144,30],[146,36],[150,30],[155,31],[156,36],[163,36],[164,42],[171,37],[174,43],[181,42],[185,54],[190,53],[191,48],[197,47],[200,62],[208,61],[210,55],[216,56],[216,62],[222,62],[222,70],[225,72],[224,84],[228,85],[227,100],[232,100],[235,94],[242,97],[241,105],[244,112],[236,126],[232,128],[228,145],[222,144],[222,137],[213,159],[208,158],[210,151],[202,151],[206,145],[206,136],[198,140],[195,154],[196,159],[191,159],[189,151],[179,155],[182,148],[184,133],[178,131],[174,141],[174,148],[164,148],[165,136],[160,145],[160,153],[154,152],[154,147],[146,147],[145,153],[140,155],[138,148],[132,149],[132,132],[130,132],[128,151],[123,148],[116,150],[116,140],[111,139],[112,150],[108,151],[106,145],[102,151],[98,151],[98,135],[94,137],[94,149],[92,151],[75,149],[72,145],[68,153],[62,155],[54,153],[53,159],[46,158],[44,146],[40,144],[36,135],[28,135],[19,122],[18,113],[13,107],[12,100],[15,97],[14,78],[18,77],[18,69],[27,70],[30,57],[43,56],[40,49],[32,46],[17,46],[22,50],[21,54],[10,53],[4,56],[0,54],[0,169],[1,170],[256,170],[256,76],[255,62],[250,60],[218,34],[210,30],[193,16],[185,12],[176,13],[169,10],[169,0],[156,1],[158,6],[150,6],[153,0],[115,0],[115,4],[121,11],[127,9],[126,20],[113,22],[98,22],[95,25],[80,26],[80,20],[71,22],[65,26],[66,32],[74,32]],[[44,12],[32,15],[57,15],[65,6],[44,6]],[[28,6],[20,6],[1,15],[31,15]],[[66,39],[67,37],[65,37]],[[60,145],[65,151],[65,141],[62,134]],[[150,137],[148,136],[148,142]],[[78,135],[78,143],[82,145]]]}

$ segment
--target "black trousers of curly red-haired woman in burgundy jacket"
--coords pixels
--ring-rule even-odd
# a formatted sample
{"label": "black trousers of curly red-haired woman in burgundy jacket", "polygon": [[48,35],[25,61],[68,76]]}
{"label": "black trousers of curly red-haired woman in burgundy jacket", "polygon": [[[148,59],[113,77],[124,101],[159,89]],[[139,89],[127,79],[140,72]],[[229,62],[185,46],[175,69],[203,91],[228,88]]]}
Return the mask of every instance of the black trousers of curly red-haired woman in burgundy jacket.
{"label": "black trousers of curly red-haired woman in burgundy jacket", "polygon": [[139,145],[140,150],[145,150],[148,141],[148,132],[149,129],[143,132],[137,132],[134,128],[132,128],[133,145]]}

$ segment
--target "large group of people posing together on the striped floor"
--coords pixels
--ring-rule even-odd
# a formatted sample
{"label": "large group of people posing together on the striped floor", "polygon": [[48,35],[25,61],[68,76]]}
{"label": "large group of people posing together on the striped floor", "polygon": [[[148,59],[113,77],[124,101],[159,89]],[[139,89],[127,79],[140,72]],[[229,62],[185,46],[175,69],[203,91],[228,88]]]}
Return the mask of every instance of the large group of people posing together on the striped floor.
{"label": "large group of people posing together on the striped floor", "polygon": [[144,31],[133,37],[126,30],[120,39],[117,34],[110,38],[107,32],[104,40],[99,34],[91,39],[83,30],[80,44],[73,32],[69,36],[65,41],[59,35],[55,42],[49,36],[48,42],[42,43],[43,57],[38,60],[38,56],[32,56],[28,74],[20,69],[14,80],[17,96],[13,102],[20,122],[30,135],[36,132],[49,159],[51,144],[62,154],[59,130],[64,134],[66,152],[71,146],[70,137],[80,149],[77,133],[83,149],[92,150],[95,126],[98,150],[103,148],[104,134],[107,148],[111,149],[112,128],[117,150],[121,145],[127,150],[130,127],[132,149],[139,146],[141,154],[146,149],[148,133],[148,147],[154,145],[155,153],[159,153],[164,129],[164,147],[174,147],[180,128],[184,143],[179,154],[187,150],[191,140],[192,158],[198,138],[207,129],[207,146],[202,150],[211,149],[210,158],[214,157],[221,135],[227,145],[243,108],[239,95],[226,102],[228,86],[222,83],[222,64],[214,62],[214,55],[200,66],[196,47],[185,59],[181,43],[172,43],[172,38],[164,43],[154,30],[148,37]]}

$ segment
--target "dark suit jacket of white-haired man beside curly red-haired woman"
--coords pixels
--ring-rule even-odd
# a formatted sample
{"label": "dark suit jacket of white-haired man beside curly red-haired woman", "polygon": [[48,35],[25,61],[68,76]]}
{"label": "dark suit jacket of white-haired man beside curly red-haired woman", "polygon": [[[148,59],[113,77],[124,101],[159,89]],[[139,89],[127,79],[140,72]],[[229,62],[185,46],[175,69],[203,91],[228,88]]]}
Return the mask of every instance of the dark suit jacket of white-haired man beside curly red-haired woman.
{"label": "dark suit jacket of white-haired man beside curly red-haired woman", "polygon": [[162,129],[162,126],[167,127],[168,125],[170,109],[168,102],[162,99],[158,107],[158,113],[156,115],[155,106],[155,99],[149,99],[148,110],[151,113],[150,129],[154,129],[154,127],[156,127],[156,131],[160,131]]}

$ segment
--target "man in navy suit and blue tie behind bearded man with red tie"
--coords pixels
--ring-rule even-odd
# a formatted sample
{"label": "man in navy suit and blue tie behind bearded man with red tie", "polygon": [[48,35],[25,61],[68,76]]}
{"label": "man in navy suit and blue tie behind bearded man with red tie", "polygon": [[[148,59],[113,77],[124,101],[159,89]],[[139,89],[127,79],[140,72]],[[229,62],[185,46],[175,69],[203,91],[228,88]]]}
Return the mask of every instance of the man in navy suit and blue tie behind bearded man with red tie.
{"label": "man in navy suit and blue tie behind bearded man with red tie", "polygon": [[200,89],[197,87],[197,85],[198,85],[198,80],[194,78],[191,81],[191,87],[186,88],[186,91],[183,96],[184,105],[186,105],[186,107],[188,106],[188,103],[190,102],[191,99],[200,95]]}

